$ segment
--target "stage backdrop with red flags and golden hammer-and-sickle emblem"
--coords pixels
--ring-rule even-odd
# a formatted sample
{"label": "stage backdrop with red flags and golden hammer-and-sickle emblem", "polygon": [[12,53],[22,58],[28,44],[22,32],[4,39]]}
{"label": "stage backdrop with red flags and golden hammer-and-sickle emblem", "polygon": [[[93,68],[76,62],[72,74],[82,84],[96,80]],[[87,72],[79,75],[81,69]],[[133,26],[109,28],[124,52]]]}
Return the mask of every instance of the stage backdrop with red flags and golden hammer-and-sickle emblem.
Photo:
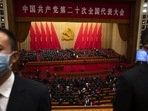
{"label": "stage backdrop with red flags and golden hammer-and-sickle emblem", "polygon": [[112,48],[126,55],[127,41],[121,39],[117,23],[31,22],[20,50]]}

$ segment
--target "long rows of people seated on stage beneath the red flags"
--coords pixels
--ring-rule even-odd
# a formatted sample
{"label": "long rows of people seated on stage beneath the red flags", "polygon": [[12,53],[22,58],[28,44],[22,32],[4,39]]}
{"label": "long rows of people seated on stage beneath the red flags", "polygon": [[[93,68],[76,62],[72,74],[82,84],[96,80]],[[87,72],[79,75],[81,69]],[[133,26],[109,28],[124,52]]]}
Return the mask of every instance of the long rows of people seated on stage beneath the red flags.
{"label": "long rows of people seated on stage beneath the red flags", "polygon": [[58,61],[87,58],[119,58],[120,55],[113,49],[46,49],[36,51],[20,51],[19,60],[22,61]]}

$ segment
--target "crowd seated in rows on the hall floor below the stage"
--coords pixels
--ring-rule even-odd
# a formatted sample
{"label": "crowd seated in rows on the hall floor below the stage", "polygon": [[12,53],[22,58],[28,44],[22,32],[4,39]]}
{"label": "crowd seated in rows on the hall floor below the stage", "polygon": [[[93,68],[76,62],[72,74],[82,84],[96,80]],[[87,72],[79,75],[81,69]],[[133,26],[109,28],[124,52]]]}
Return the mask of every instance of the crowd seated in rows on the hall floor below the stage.
{"label": "crowd seated in rows on the hall floor below the stage", "polygon": [[112,104],[115,96],[117,74],[83,77],[30,78],[44,83],[49,88],[51,104],[54,106],[85,106]]}

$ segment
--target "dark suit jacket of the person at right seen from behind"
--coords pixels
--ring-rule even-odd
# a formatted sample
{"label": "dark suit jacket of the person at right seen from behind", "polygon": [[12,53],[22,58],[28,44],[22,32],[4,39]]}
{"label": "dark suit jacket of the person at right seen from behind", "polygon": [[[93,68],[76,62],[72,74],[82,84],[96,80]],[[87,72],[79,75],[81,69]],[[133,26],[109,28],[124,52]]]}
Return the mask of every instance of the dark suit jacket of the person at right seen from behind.
{"label": "dark suit jacket of the person at right seen from behind", "polygon": [[114,111],[148,111],[148,64],[135,66],[119,77]]}

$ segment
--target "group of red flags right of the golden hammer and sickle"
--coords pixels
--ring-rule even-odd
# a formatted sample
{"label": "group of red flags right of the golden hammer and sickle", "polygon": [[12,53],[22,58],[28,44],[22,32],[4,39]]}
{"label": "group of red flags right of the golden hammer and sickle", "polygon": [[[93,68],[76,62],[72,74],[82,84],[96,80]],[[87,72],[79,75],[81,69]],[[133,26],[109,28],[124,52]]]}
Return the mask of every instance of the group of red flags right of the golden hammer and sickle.
{"label": "group of red flags right of the golden hammer and sickle", "polygon": [[95,24],[93,30],[93,24],[90,24],[88,28],[88,23],[85,26],[83,33],[83,24],[81,24],[74,48],[75,49],[85,49],[85,48],[101,48],[101,38],[102,38],[102,24],[98,29],[98,23]]}

